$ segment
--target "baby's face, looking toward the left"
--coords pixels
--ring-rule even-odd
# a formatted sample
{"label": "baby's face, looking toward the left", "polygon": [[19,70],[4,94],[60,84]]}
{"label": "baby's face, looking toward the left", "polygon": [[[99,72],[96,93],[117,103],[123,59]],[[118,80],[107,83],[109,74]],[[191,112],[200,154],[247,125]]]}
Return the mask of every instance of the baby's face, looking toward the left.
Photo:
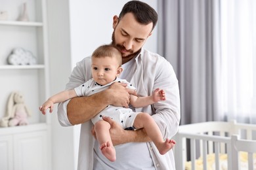
{"label": "baby's face, looking toward the left", "polygon": [[116,58],[108,56],[102,58],[92,58],[93,80],[100,85],[106,85],[116,79],[119,65]]}

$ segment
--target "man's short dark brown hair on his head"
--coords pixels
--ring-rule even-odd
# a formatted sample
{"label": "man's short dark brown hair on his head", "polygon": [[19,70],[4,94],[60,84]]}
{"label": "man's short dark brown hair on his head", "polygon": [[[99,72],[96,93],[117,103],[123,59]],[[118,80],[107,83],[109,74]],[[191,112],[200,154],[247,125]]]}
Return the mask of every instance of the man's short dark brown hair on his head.
{"label": "man's short dark brown hair on his head", "polygon": [[143,3],[141,1],[129,1],[124,6],[119,14],[119,20],[125,16],[125,14],[131,12],[137,22],[140,24],[150,24],[153,23],[152,30],[158,22],[158,13],[150,5]]}

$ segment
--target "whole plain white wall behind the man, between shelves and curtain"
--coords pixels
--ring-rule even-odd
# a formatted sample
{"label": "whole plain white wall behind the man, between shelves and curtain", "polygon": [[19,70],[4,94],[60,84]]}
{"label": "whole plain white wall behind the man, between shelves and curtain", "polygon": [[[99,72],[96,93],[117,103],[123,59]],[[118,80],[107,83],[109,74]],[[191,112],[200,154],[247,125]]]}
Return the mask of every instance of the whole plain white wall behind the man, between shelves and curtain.
{"label": "whole plain white wall behind the man, between shelves and curtain", "polygon": [[[157,9],[157,0],[146,1]],[[51,95],[64,90],[77,61],[91,55],[101,44],[111,42],[112,18],[119,15],[127,0],[48,0],[49,58]],[[145,47],[156,52],[157,27]],[[56,116],[53,124],[53,169],[76,169],[79,126],[61,127]]]}

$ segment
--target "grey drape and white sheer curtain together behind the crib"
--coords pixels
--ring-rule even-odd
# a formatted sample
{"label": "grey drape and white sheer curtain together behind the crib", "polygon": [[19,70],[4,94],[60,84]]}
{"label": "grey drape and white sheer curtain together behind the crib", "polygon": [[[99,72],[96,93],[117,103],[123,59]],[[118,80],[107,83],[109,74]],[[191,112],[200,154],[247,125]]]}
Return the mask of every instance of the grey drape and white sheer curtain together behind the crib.
{"label": "grey drape and white sheer curtain together behind the crib", "polygon": [[181,124],[256,123],[256,1],[159,0],[158,52],[179,79]]}

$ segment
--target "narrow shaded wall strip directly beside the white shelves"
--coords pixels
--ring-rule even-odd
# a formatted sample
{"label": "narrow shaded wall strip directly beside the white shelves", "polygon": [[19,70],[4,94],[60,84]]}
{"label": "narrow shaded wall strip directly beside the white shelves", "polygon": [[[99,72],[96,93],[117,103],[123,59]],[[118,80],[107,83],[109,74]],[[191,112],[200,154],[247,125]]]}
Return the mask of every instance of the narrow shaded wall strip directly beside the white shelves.
{"label": "narrow shaded wall strip directly beside the white shelves", "polygon": [[[64,90],[72,71],[69,3],[48,0],[50,95]],[[49,96],[48,96],[49,97]],[[52,169],[75,169],[74,127],[58,123],[56,107],[52,118]]]}

